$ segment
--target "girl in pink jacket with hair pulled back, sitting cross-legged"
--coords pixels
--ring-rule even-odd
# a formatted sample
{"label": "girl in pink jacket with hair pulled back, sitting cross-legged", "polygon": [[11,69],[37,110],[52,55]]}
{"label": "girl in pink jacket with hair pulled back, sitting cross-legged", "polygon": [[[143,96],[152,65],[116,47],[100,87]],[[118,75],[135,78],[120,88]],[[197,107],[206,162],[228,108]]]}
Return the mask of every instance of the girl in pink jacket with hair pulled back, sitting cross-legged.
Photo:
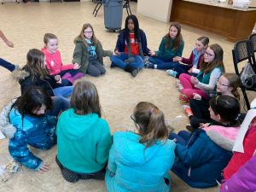
{"label": "girl in pink jacket with hair pulled back, sitting cross-legged", "polygon": [[76,79],[82,78],[83,73],[79,73],[79,65],[63,65],[61,53],[58,50],[58,38],[55,34],[44,34],[44,48],[41,49],[45,55],[46,66],[50,75],[60,75],[62,84],[72,85]]}

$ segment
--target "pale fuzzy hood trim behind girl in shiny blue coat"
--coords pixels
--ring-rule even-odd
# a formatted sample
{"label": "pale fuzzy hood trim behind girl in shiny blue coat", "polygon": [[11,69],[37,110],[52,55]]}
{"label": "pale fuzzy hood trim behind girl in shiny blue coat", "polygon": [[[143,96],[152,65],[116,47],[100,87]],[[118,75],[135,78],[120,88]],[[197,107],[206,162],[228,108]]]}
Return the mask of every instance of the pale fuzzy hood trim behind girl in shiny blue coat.
{"label": "pale fuzzy hood trim behind girl in shiny blue coat", "polygon": [[15,101],[16,99],[9,102],[6,106],[3,107],[3,110],[0,113],[0,131],[2,131],[3,135],[7,138],[14,137],[16,132],[15,126],[11,125],[9,121],[9,113]]}

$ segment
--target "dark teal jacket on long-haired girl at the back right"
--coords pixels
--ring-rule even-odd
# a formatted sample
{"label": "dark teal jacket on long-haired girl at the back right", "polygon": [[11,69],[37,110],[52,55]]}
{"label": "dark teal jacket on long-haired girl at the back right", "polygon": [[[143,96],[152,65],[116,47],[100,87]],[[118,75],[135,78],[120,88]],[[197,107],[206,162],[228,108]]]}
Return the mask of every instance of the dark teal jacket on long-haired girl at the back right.
{"label": "dark teal jacket on long-haired girl at the back right", "polygon": [[184,48],[184,41],[179,44],[177,49],[172,49],[173,40],[171,39],[170,45],[166,48],[166,36],[162,38],[158,51],[156,51],[157,55],[166,56],[166,57],[174,57],[174,56],[182,56],[183,55],[183,48]]}

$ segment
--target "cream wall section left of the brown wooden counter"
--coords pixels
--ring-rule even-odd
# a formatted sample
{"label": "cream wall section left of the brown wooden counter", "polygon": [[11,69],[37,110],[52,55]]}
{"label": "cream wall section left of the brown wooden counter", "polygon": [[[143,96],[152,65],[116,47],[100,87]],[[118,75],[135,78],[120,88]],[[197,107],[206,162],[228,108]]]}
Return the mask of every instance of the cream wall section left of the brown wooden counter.
{"label": "cream wall section left of the brown wooden counter", "polygon": [[170,21],[172,0],[137,0],[137,13],[164,22]]}

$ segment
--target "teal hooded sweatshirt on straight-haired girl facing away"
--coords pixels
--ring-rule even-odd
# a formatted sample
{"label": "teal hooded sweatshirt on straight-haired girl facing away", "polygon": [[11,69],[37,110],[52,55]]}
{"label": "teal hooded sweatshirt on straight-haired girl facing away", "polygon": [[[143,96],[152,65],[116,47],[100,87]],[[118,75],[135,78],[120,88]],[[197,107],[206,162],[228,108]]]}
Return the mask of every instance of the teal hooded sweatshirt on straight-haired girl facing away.
{"label": "teal hooded sweatshirt on straight-haired girl facing away", "polygon": [[67,169],[92,173],[106,166],[111,135],[108,122],[96,113],[78,115],[73,108],[61,113],[56,134],[57,157]]}

